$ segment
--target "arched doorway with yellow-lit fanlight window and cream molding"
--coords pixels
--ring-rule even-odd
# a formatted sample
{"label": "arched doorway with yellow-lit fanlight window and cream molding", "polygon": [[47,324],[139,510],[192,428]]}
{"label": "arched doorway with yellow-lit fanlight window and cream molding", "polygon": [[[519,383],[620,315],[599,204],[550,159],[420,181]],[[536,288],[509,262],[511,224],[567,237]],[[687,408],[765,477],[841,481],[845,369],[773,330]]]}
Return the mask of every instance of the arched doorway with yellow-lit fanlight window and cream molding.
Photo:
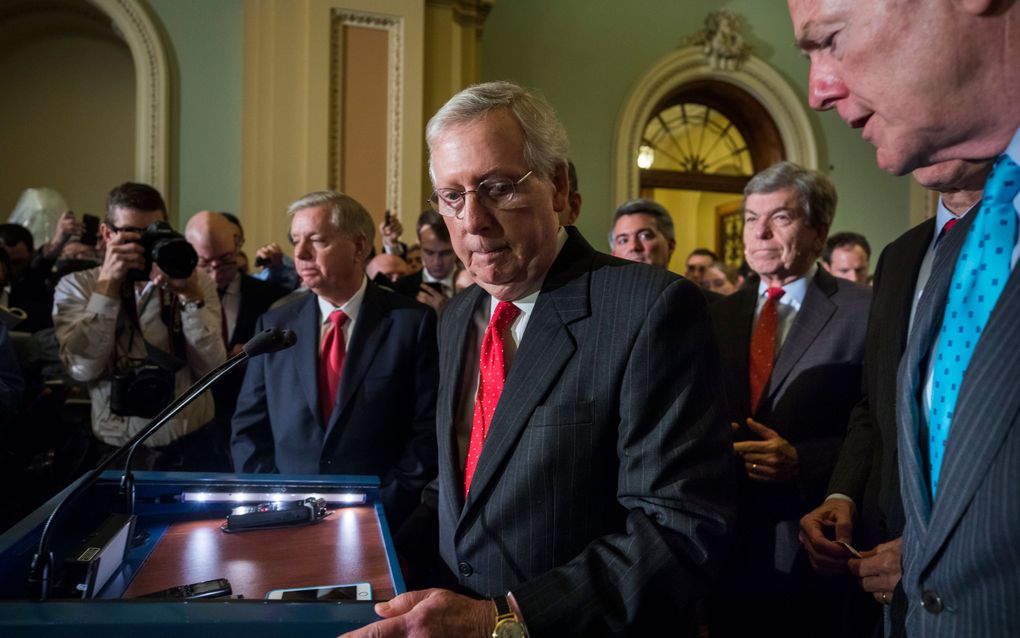
{"label": "arched doorway with yellow-lit fanlight window and cream molding", "polygon": [[[690,142],[683,139],[688,134]],[[674,139],[679,161],[663,157],[657,163],[656,146],[664,151]],[[721,69],[701,47],[685,47],[646,72],[624,104],[614,143],[613,198],[649,197],[666,206],[677,234],[670,269],[682,273],[695,247],[738,262],[744,185],[781,159],[818,165],[807,109],[786,81],[754,55],[738,68]]]}

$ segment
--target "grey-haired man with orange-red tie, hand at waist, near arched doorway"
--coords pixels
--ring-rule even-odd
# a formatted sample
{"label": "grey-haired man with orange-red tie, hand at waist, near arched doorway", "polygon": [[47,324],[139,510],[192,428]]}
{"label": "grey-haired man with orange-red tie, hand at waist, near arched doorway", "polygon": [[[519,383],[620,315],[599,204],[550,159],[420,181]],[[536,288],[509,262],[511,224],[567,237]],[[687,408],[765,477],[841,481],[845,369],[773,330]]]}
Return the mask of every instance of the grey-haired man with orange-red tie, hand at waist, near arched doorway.
{"label": "grey-haired man with orange-red tie, hand at waist, near arched doorway", "polygon": [[847,580],[812,573],[797,541],[861,395],[871,293],[817,263],[835,204],[828,179],[790,162],[745,189],[745,252],[761,281],[711,308],[743,461],[737,548],[710,605],[713,636],[836,633],[833,592]]}

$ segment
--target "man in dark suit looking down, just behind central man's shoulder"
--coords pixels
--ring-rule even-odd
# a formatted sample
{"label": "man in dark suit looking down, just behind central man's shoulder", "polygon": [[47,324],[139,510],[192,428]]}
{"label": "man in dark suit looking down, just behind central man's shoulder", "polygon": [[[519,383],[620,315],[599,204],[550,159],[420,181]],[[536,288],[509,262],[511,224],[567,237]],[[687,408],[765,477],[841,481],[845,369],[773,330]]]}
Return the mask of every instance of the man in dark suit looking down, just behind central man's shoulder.
{"label": "man in dark suit looking down, just behind central man's shoulder", "polygon": [[416,230],[422,267],[397,280],[394,290],[439,312],[456,293],[457,255],[443,217],[431,208],[418,215]]}

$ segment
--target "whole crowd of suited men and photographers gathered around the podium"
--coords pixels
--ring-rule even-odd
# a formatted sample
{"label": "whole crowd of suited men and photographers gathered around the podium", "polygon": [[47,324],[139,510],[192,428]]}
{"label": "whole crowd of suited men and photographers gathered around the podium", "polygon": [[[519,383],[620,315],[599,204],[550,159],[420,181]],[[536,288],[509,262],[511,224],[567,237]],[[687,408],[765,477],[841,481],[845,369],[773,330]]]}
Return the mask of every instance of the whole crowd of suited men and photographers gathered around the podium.
{"label": "whole crowd of suited men and photographers gathered around the podium", "polygon": [[[412,246],[334,191],[289,206],[293,258],[262,246],[252,275],[238,217],[177,234],[144,184],[110,192],[95,238],[63,211],[42,238],[0,226],[0,305],[24,310],[0,321],[4,436],[66,418],[42,383],[62,377],[88,398],[82,469],[287,328],[293,348],[138,462],[379,477],[412,591],[352,636],[1020,634],[1020,95],[1001,4],[914,7],[957,54],[892,69],[933,37],[890,27],[902,7],[789,2],[812,106],[940,195],[873,280],[867,239],[830,234],[831,181],[788,161],[744,191],[743,264],[698,248],[669,272],[673,215],[648,199],[596,250],[551,105],[488,83],[428,121]],[[8,325],[39,338],[15,347]],[[19,445],[5,453],[31,465]]]}

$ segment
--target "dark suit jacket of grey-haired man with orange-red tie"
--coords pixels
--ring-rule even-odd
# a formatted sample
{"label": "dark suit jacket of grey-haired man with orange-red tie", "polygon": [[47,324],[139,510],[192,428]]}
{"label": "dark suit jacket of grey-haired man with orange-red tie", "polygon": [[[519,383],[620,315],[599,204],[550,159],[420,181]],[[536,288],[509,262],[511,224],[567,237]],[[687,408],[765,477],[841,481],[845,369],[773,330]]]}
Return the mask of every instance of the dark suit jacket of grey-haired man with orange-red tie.
{"label": "dark suit jacket of grey-haired man with orange-red tie", "polygon": [[[740,290],[711,306],[728,421],[743,426],[748,416],[754,418],[786,439],[800,459],[799,476],[780,485],[751,481],[743,465],[738,468],[738,553],[731,586],[774,588],[777,562],[792,569],[803,551],[797,522],[823,497],[850,411],[861,398],[870,299],[869,289],[835,279],[819,266],[755,411],[748,366],[758,289]],[[757,440],[746,426],[736,438]],[[777,552],[786,558],[777,560]],[[809,577],[807,563],[798,565]]]}

